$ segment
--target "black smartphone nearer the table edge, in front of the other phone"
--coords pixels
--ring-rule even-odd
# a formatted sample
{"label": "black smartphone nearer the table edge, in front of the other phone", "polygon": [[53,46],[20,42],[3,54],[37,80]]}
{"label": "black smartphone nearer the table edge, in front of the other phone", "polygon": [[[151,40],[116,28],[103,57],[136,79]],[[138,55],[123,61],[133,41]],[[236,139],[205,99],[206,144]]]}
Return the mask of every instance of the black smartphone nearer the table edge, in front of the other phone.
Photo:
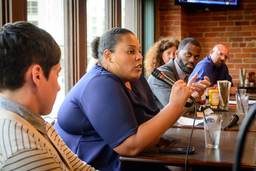
{"label": "black smartphone nearer the table edge, in front of the other phone", "polygon": [[[187,154],[187,147],[173,147],[173,146],[161,146],[159,148],[160,153],[176,153],[176,154]],[[195,147],[189,147],[188,154],[194,154]]]}

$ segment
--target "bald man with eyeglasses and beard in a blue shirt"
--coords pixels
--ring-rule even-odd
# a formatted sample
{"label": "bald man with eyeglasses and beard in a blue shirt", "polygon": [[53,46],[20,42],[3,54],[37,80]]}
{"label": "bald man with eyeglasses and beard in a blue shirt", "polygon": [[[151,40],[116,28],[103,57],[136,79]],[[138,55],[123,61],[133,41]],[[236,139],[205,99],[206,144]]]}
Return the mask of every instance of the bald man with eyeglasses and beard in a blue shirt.
{"label": "bald man with eyeglasses and beard in a blue shirt", "polygon": [[195,82],[203,80],[204,76],[208,76],[211,85],[206,89],[206,96],[209,96],[209,90],[218,89],[217,81],[228,80],[231,82],[229,93],[235,94],[236,87],[233,86],[232,77],[229,75],[228,67],[225,64],[227,59],[229,59],[228,48],[223,44],[215,45],[211,50],[210,55],[198,62],[195,69],[189,76],[189,79],[191,79],[191,77],[197,72],[198,77]]}

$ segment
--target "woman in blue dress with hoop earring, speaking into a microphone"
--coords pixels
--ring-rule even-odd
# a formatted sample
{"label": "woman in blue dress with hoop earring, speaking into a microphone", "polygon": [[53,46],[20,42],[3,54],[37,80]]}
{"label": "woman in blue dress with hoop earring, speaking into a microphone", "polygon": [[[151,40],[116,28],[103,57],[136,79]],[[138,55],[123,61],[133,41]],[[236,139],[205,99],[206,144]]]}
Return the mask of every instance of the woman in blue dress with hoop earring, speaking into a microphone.
{"label": "woman in blue dress with hoop earring, speaking into a microphone", "polygon": [[[55,129],[80,159],[101,171],[167,170],[164,166],[119,161],[135,156],[182,116],[186,102],[203,94],[209,80],[172,87],[170,102],[159,111],[141,75],[141,46],[135,35],[113,28],[91,43],[98,63],[70,90],[58,112]],[[196,79],[196,76],[195,78]]]}

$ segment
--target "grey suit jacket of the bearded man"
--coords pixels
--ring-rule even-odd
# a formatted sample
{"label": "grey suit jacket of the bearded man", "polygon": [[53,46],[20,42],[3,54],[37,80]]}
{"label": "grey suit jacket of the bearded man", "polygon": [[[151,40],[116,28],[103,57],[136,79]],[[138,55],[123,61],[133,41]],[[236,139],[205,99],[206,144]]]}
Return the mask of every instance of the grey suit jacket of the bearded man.
{"label": "grey suit jacket of the bearded man", "polygon": [[[174,60],[175,59],[172,58],[168,63],[166,63],[165,65],[162,65],[161,67],[158,67],[157,69],[162,71],[171,80],[176,82],[180,80],[180,78],[175,68]],[[169,103],[172,87],[160,80],[157,80],[153,75],[150,75],[148,77],[147,82],[154,93],[154,97],[155,97],[158,108],[160,110],[163,109],[163,107]],[[186,83],[188,82],[187,77],[185,78],[185,82]],[[185,113],[193,111],[194,109],[195,109],[194,106],[192,106],[188,108],[188,110]]]}

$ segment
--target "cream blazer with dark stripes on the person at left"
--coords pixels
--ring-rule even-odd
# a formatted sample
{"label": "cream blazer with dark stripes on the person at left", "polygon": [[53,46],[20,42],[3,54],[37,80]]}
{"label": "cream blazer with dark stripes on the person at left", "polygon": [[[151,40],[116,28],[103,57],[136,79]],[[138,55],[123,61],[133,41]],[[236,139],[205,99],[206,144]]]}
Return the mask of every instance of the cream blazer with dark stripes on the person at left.
{"label": "cream blazer with dark stripes on the person at left", "polygon": [[[1,111],[2,112],[2,111]],[[81,161],[58,136],[50,123],[45,123],[48,141],[29,126],[17,122],[15,119],[0,118],[0,170],[69,170],[61,159],[60,153],[69,162],[73,170],[95,171],[90,165]],[[40,136],[39,136],[40,134]],[[47,142],[46,142],[47,141]],[[57,151],[57,153],[56,153]]]}

